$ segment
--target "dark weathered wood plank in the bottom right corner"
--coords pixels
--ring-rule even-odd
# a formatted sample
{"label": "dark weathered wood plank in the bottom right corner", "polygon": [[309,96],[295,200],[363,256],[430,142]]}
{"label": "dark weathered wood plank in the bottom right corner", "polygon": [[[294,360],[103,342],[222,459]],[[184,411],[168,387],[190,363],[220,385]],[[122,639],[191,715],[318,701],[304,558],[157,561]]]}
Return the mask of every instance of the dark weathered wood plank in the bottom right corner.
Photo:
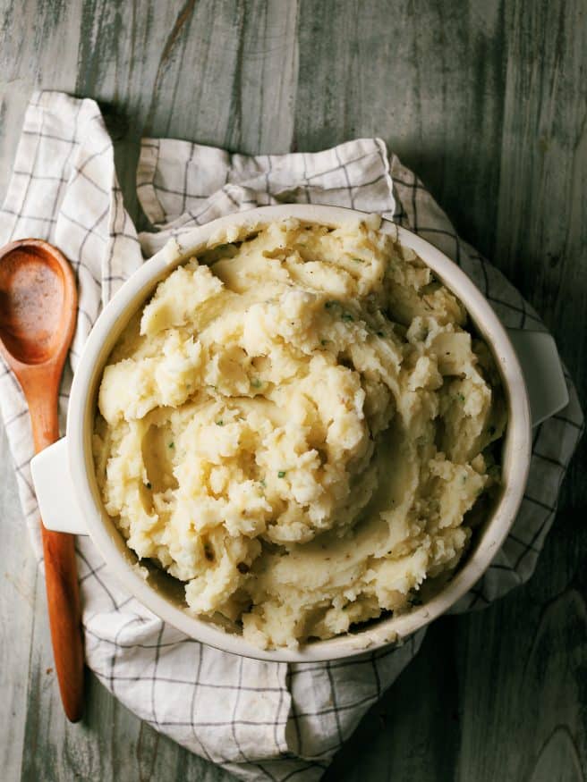
{"label": "dark weathered wood plank in the bottom right corner", "polygon": [[520,593],[460,622],[468,717],[461,780],[473,773],[488,782],[584,778],[587,528],[579,520],[572,513],[558,518],[534,578]]}

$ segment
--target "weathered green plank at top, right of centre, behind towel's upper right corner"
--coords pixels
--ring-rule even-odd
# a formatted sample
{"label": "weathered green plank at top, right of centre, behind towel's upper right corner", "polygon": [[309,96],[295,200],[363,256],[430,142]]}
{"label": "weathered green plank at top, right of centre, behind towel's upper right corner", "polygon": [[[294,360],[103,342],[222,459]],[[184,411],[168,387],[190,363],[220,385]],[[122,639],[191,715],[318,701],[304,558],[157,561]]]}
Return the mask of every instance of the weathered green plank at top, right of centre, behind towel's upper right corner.
{"label": "weathered green plank at top, right of centre, behind towel's upper right corner", "polygon": [[510,6],[303,0],[296,146],[381,136],[490,256]]}

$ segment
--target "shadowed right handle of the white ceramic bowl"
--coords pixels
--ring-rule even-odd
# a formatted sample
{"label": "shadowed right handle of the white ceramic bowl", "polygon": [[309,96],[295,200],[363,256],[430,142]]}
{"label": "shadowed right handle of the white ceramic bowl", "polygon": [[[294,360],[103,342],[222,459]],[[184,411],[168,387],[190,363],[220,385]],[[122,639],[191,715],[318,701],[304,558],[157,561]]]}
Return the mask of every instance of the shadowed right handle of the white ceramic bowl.
{"label": "shadowed right handle of the white ceramic bowl", "polygon": [[507,333],[522,366],[532,426],[537,426],[566,408],[569,402],[557,345],[548,332],[507,329]]}

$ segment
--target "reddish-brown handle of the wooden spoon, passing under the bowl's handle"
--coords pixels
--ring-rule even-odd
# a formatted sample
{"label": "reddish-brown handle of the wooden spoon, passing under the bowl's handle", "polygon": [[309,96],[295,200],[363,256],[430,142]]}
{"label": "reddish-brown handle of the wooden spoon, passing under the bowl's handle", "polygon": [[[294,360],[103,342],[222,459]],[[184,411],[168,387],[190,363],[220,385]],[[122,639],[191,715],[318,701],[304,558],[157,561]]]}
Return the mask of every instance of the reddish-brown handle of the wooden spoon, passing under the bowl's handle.
{"label": "reddish-brown handle of the wooden spoon, passing under the bowl's handle", "polygon": [[[47,448],[59,437],[57,403],[53,395],[29,399],[35,451]],[[75,538],[52,532],[41,523],[47,608],[51,642],[61,700],[67,718],[81,719],[83,710],[83,642]]]}

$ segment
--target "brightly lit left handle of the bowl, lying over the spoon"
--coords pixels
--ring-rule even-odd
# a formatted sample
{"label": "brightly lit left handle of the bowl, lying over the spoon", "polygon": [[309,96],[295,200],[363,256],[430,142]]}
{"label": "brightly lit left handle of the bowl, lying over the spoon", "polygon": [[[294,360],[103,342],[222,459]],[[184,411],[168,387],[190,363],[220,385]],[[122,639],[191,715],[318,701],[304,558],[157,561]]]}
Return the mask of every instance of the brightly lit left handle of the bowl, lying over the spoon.
{"label": "brightly lit left handle of the bowl, lying over the spoon", "polygon": [[41,450],[30,462],[30,472],[43,525],[55,532],[87,535],[69,472],[66,438]]}

